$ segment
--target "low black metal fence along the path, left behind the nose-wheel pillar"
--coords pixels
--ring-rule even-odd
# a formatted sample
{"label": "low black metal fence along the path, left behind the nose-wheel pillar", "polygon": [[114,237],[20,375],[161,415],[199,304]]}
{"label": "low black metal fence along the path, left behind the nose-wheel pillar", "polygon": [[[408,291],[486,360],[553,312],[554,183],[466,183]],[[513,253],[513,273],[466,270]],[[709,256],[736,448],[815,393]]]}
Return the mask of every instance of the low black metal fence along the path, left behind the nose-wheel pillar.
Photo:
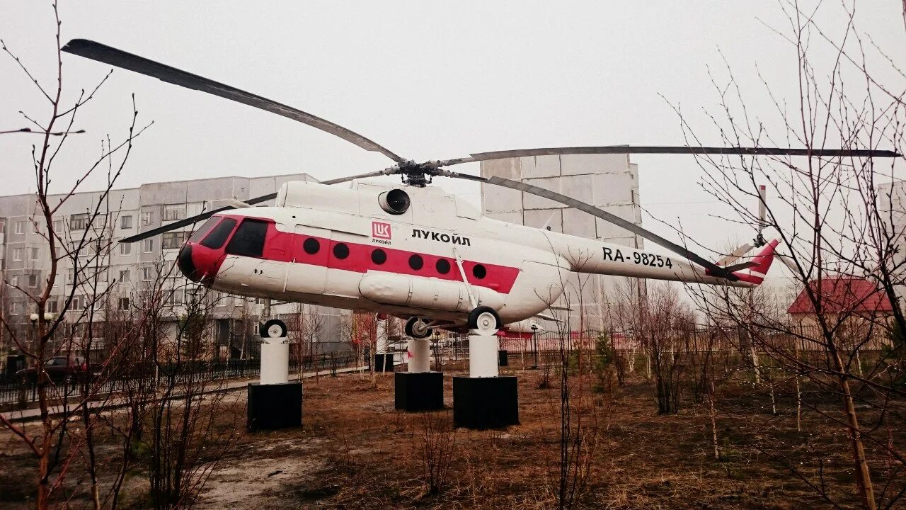
{"label": "low black metal fence along the path, left behind the nose-wheel pillar", "polygon": [[[355,366],[368,367],[352,351],[338,351],[304,356],[290,361],[290,374],[303,372],[327,372]],[[116,394],[140,388],[163,387],[172,380],[177,385],[225,381],[234,378],[253,378],[261,374],[260,359],[230,359],[226,361],[192,361],[180,364],[160,364],[142,367],[131,376],[108,377],[104,374],[92,376],[92,394]],[[52,381],[49,397],[62,399],[75,396],[81,390],[83,379],[63,378]],[[37,385],[33,380],[21,377],[6,377],[0,380],[0,404],[35,402],[38,398]]]}

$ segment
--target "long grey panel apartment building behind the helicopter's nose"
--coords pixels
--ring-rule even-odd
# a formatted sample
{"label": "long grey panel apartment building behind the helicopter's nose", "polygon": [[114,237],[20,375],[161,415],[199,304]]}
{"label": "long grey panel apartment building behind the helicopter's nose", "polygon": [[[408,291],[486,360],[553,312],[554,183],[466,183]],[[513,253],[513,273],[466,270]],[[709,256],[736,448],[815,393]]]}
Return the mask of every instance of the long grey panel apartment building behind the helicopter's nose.
{"label": "long grey panel apartment building behind the helicopter's nose", "polygon": [[[155,182],[138,188],[112,190],[106,195],[100,191],[85,191],[66,198],[53,216],[54,230],[63,233],[64,242],[57,249],[60,257],[58,276],[47,302],[47,311],[58,313],[64,297],[70,295],[75,286],[67,316],[74,318],[83,313],[91,304],[91,296],[97,293],[86,289],[84,280],[91,281],[99,291],[109,290],[109,299],[92,307],[97,310],[95,317],[101,321],[108,310],[129,310],[135,304],[133,300],[137,293],[154,285],[163,285],[169,290],[165,294],[169,305],[182,306],[189,298],[186,293],[192,292],[195,286],[173,268],[173,261],[192,227],[132,244],[117,241],[221,207],[227,200],[243,201],[272,193],[285,181],[313,181],[313,178],[296,173]],[[52,195],[48,200],[53,206],[63,198],[63,195]],[[0,273],[5,281],[0,289],[0,313],[12,325],[17,338],[29,338],[32,334],[29,315],[34,313],[34,304],[24,292],[43,288],[43,281],[51,270],[46,228],[43,218],[36,217],[35,211],[34,195],[0,197]],[[81,250],[83,257],[74,260],[67,257],[68,250],[80,243],[85,245]],[[96,247],[101,247],[101,255],[95,257]],[[77,271],[77,266],[81,270]],[[81,281],[76,281],[77,274]],[[215,326],[211,358],[254,357],[258,348],[255,328],[261,301],[218,293],[212,298],[211,315]],[[302,309],[297,304],[279,304],[272,310],[274,316],[283,319],[291,319],[300,313],[317,317],[324,350],[340,348],[336,341],[337,331],[342,317],[349,312],[323,307]],[[84,333],[66,331],[65,334]],[[92,341],[92,348],[103,348],[103,342],[100,339]],[[4,353],[15,350],[6,331],[0,337],[0,349]]]}

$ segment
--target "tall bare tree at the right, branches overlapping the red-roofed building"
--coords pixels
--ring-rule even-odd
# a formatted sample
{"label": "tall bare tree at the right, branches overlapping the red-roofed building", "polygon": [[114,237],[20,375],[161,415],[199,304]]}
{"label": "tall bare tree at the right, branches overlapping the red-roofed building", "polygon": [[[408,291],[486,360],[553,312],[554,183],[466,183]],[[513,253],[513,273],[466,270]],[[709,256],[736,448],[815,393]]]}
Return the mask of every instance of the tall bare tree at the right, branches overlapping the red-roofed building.
{"label": "tall bare tree at the right, branches overlapping the red-roofed building", "polygon": [[[749,111],[747,93],[727,66],[724,77],[712,74],[718,90],[718,112],[710,113],[725,144],[733,146],[790,143],[808,150],[892,148],[903,153],[906,74],[897,58],[874,43],[871,34],[856,29],[854,6],[843,2],[835,19],[843,21],[842,34],[830,34],[815,19],[822,8],[805,12],[796,2],[781,2],[787,26],[773,29],[789,43],[797,59],[799,96],[787,101],[772,83],[762,81],[775,106],[775,119]],[[834,7],[824,6],[823,9]],[[831,59],[817,58],[828,52]],[[883,76],[883,78],[882,78]],[[697,140],[677,108],[689,140]],[[771,126],[778,126],[776,129]],[[899,158],[901,159],[901,158]],[[758,201],[758,185],[766,184],[766,227],[780,240],[792,281],[802,290],[809,322],[794,324],[777,314],[780,307],[753,301],[739,289],[699,289],[693,294],[715,324],[743,331],[753,346],[771,358],[782,379],[795,381],[797,406],[814,412],[847,431],[846,449],[852,462],[853,486],[864,508],[890,507],[906,493],[900,469],[872,470],[872,451],[902,462],[901,449],[883,432],[883,424],[902,424],[901,398],[893,384],[892,369],[899,362],[894,349],[878,352],[879,338],[903,330],[900,290],[903,232],[893,191],[882,191],[882,180],[892,180],[896,162],[860,157],[802,158],[727,156],[699,158],[704,186],[728,205],[735,220],[757,224],[748,204]],[[892,187],[895,190],[896,187]],[[887,196],[885,196],[885,194]],[[892,207],[884,210],[881,203]],[[869,281],[869,292],[853,285]],[[879,313],[878,303],[892,306]],[[873,350],[873,352],[872,352]],[[868,358],[873,363],[863,368]],[[764,374],[756,372],[759,378]],[[840,403],[836,411],[804,401],[800,381],[813,395]],[[775,379],[768,377],[771,396]],[[775,407],[776,409],[776,407]],[[795,427],[801,427],[796,412]],[[867,424],[867,425],[866,425]],[[762,434],[765,432],[762,431]],[[770,441],[766,441],[769,443]],[[834,505],[824,472],[775,456],[805,484]],[[823,466],[823,465],[822,465]],[[881,483],[878,483],[878,480]]]}

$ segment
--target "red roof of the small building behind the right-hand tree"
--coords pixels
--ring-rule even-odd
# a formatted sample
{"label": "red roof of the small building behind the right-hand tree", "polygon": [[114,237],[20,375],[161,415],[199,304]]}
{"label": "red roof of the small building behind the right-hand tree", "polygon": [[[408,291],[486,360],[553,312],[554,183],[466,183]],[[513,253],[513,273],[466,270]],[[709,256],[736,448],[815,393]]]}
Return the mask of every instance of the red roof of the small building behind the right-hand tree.
{"label": "red roof of the small building behind the right-hand tree", "polygon": [[[861,317],[890,315],[893,311],[891,300],[874,284],[863,278],[852,276],[829,277],[808,283],[815,294],[822,296],[824,313],[849,314]],[[796,296],[786,313],[814,315],[814,306],[805,289]]]}

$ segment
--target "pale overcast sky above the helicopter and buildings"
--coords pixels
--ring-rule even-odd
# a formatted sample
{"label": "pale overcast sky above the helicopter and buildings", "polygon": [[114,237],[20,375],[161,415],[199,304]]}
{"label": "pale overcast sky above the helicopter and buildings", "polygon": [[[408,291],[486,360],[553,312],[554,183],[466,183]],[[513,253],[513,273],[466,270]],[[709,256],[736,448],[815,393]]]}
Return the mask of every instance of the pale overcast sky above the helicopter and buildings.
{"label": "pale overcast sky above the helicopter and buildings", "polygon": [[[812,4],[804,2],[805,5]],[[843,28],[839,3],[819,20]],[[53,78],[49,1],[3,1],[0,37],[39,79]],[[63,40],[88,38],[229,83],[339,123],[414,160],[540,146],[682,144],[681,105],[704,144],[720,144],[702,108],[718,93],[708,67],[737,74],[749,109],[776,122],[756,65],[794,101],[795,51],[773,2],[63,2]],[[857,21],[894,54],[906,47],[901,2],[857,3]],[[767,25],[767,26],[766,26]],[[816,44],[817,47],[817,44]],[[721,57],[721,53],[723,57]],[[828,51],[827,56],[831,53]],[[70,97],[109,65],[64,54]],[[9,58],[0,58],[0,129],[47,107]],[[55,171],[61,190],[81,175],[104,133],[121,138],[135,93],[140,123],[119,187],[226,175],[308,172],[325,180],[389,166],[376,152],[246,105],[117,70],[77,127]],[[664,99],[666,98],[666,100]],[[776,124],[773,124],[776,126]],[[34,190],[34,135],[0,136],[0,194]],[[699,188],[688,156],[633,156],[641,204],[722,247],[748,230]],[[477,173],[477,164],[463,172]],[[444,181],[450,191],[477,186]],[[89,182],[91,189],[98,181]],[[755,203],[752,204],[755,207]],[[646,218],[651,230],[676,239]]]}

